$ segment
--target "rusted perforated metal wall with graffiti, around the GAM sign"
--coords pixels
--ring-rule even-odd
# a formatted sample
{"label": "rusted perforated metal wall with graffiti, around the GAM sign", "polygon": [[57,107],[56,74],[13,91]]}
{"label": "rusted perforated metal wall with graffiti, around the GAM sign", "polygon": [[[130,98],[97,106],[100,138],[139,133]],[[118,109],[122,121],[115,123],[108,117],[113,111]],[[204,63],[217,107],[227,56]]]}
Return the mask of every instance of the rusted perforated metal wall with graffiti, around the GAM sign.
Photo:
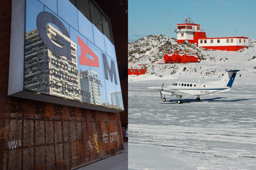
{"label": "rusted perforated metal wall with graffiti, around the GAM sign", "polygon": [[0,169],[70,169],[123,150],[119,113],[7,96],[11,1],[0,3]]}

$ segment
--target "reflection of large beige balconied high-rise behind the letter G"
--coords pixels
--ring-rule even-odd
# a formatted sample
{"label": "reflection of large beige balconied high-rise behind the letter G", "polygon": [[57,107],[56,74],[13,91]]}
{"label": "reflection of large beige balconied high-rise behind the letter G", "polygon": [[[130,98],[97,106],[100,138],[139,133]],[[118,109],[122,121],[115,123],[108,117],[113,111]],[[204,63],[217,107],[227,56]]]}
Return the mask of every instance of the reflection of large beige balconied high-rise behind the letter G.
{"label": "reflection of large beige balconied high-rise behind the letter G", "polygon": [[[63,35],[50,24],[46,25],[46,32],[50,40],[59,47],[63,46],[56,41],[56,35],[70,41],[70,38]],[[48,50],[46,46],[44,46],[37,29],[27,32],[25,37],[24,89],[80,101],[80,96],[75,94],[74,90],[69,92],[67,89],[64,91],[62,88],[62,86],[77,89],[80,87],[78,75],[71,72],[72,67],[74,67],[74,70],[77,69],[77,44],[71,41],[72,61],[69,61],[66,56],[58,56]],[[38,53],[38,50],[42,50],[45,55],[42,52]],[[42,59],[38,58],[38,54]],[[44,59],[45,56],[49,56],[49,63]],[[68,69],[67,67],[65,67],[65,69],[64,65],[66,65]],[[44,71],[42,72],[42,69],[45,70],[45,73]],[[49,69],[51,75],[48,73]],[[75,80],[75,83],[73,80]],[[51,85],[50,87],[51,81],[54,83],[58,82],[58,86]]]}

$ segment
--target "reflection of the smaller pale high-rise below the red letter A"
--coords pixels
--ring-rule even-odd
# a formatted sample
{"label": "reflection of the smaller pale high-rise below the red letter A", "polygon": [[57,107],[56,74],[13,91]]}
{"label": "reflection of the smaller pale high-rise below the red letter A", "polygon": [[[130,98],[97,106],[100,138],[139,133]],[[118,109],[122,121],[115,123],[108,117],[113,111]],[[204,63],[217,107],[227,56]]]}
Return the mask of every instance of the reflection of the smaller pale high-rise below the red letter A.
{"label": "reflection of the smaller pale high-rise below the red letter A", "polygon": [[[84,75],[84,76],[82,76]],[[99,74],[92,70],[81,71],[79,73],[81,90],[90,92],[91,97],[80,96],[81,101],[100,105],[100,80]]]}

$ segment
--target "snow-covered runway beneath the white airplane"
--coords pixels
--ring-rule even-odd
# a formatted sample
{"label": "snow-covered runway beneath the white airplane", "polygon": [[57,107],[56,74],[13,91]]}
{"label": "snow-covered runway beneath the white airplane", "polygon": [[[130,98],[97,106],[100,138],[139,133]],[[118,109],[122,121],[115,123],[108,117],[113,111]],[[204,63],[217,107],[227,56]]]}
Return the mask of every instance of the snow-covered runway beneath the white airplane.
{"label": "snow-covered runway beneath the white airplane", "polygon": [[146,89],[161,81],[128,83],[129,169],[256,169],[255,84],[177,104]]}

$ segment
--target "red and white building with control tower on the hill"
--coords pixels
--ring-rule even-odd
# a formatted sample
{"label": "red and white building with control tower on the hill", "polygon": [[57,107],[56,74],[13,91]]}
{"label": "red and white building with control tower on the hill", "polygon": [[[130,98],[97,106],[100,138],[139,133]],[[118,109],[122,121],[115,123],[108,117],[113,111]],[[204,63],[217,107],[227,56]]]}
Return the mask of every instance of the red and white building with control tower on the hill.
{"label": "red and white building with control tower on the hill", "polygon": [[199,24],[187,21],[187,18],[184,24],[177,24],[174,32],[177,33],[177,41],[180,44],[187,40],[189,43],[197,43],[200,47],[213,50],[237,51],[248,48],[248,37],[207,38],[205,30],[200,29]]}

